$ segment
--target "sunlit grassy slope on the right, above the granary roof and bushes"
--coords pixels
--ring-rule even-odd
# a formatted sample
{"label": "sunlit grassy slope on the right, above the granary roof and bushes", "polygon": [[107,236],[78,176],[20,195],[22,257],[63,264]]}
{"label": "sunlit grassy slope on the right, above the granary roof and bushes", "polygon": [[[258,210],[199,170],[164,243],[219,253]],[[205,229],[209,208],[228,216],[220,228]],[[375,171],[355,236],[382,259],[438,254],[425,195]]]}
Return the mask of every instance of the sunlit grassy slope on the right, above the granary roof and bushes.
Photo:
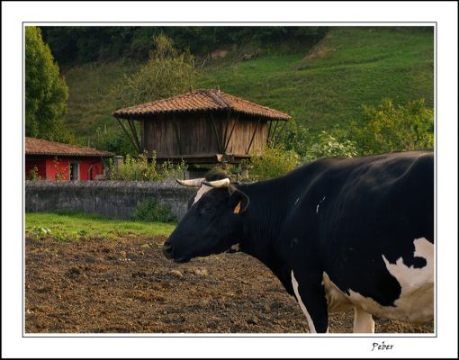
{"label": "sunlit grassy slope on the right, above the granary roof and bushes", "polygon": [[433,105],[433,35],[425,31],[335,28],[313,50],[268,55],[202,74],[202,87],[288,112],[314,130],[358,119],[362,103],[426,99]]}

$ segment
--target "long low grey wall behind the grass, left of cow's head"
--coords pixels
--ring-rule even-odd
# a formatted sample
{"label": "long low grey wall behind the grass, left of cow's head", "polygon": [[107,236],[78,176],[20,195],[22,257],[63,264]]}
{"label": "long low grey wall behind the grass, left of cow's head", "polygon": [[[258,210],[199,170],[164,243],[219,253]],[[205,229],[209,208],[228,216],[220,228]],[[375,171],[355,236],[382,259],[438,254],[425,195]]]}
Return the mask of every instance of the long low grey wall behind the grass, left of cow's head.
{"label": "long low grey wall behind the grass, left of cow's head", "polygon": [[128,220],[140,202],[155,198],[181,219],[195,191],[175,182],[26,181],[25,211],[85,211]]}

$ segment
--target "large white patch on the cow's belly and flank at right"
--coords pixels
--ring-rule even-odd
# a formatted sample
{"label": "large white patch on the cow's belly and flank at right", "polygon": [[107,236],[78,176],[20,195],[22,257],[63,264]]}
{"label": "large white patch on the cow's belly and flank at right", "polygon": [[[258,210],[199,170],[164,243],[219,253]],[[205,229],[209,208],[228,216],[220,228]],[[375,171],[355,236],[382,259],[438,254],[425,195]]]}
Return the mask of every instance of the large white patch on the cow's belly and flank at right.
{"label": "large white patch on the cow's belly and flank at right", "polygon": [[427,265],[421,268],[406,266],[400,257],[391,264],[386,257],[383,261],[387,270],[401,284],[401,295],[395,306],[382,306],[371,298],[349,289],[349,300],[365,311],[388,319],[408,322],[427,322],[434,319],[434,245],[427,238],[414,240],[414,256],[423,257]]}

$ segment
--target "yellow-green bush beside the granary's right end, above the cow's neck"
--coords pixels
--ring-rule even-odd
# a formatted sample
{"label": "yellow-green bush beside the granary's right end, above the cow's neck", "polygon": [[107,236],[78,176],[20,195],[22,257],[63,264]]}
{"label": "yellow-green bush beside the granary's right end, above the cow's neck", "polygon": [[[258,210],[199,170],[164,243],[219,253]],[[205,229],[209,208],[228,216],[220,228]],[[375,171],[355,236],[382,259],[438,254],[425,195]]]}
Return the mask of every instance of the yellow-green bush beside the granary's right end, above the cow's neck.
{"label": "yellow-green bush beside the granary's right end, above the cow's neck", "polygon": [[263,155],[252,154],[250,161],[245,161],[248,167],[248,180],[266,180],[284,175],[300,165],[300,157],[293,150],[284,146],[267,147]]}

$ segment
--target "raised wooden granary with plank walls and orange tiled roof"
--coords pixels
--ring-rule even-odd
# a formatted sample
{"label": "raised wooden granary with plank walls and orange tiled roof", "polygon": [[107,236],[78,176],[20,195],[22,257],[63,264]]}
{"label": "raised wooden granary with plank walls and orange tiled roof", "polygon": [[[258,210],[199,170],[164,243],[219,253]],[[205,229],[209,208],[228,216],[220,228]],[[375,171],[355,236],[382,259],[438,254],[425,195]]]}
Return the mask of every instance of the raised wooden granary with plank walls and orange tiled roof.
{"label": "raised wooden granary with plank walls and orange tiled roof", "polygon": [[[191,90],[113,112],[132,143],[157,159],[187,164],[238,163],[266,142],[291,117],[220,89]],[[134,121],[139,121],[140,134]]]}

